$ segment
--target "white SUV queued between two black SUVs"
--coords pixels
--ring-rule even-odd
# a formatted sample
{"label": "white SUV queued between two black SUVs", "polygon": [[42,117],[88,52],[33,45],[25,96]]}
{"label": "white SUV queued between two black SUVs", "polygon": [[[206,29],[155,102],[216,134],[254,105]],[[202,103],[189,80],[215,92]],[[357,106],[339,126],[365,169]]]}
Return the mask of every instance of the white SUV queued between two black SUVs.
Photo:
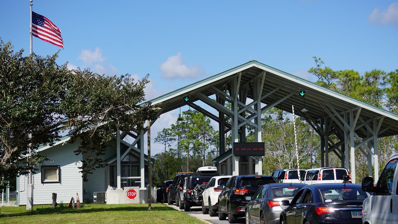
{"label": "white SUV queued between two black SUVs", "polygon": [[207,183],[205,191],[202,193],[202,213],[210,214],[210,216],[217,216],[218,199],[222,190],[217,189],[219,185],[225,186],[228,179],[232,176],[217,176],[212,177]]}

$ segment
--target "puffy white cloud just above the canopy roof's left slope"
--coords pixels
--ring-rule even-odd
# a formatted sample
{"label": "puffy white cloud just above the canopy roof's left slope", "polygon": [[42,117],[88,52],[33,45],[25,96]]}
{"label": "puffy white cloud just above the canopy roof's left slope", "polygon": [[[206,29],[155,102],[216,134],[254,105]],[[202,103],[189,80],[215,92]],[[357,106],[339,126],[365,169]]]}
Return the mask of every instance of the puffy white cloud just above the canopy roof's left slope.
{"label": "puffy white cloud just above the canopy roof's left slope", "polygon": [[161,66],[160,70],[163,73],[163,78],[174,79],[174,78],[195,78],[198,75],[205,75],[205,70],[203,67],[199,66],[187,66],[185,62],[181,59],[182,54],[177,53],[167,58]]}

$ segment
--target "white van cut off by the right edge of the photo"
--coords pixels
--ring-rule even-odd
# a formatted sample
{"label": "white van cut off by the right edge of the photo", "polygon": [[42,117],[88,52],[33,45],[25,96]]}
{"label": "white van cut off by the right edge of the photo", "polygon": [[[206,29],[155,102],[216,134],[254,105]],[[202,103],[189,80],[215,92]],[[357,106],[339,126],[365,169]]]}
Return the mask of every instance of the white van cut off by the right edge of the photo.
{"label": "white van cut off by the right edge of the photo", "polygon": [[364,224],[398,224],[398,153],[394,154],[377,181],[373,177],[362,179],[362,190],[373,192],[363,201],[362,223]]}

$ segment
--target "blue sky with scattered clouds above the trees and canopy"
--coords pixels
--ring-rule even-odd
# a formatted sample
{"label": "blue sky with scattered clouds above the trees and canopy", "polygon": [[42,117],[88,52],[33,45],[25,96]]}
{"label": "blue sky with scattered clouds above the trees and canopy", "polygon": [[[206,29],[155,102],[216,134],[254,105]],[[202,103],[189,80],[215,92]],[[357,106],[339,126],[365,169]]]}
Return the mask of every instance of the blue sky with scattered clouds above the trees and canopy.
{"label": "blue sky with scattered clouds above the trees and canopy", "polygon": [[[310,80],[312,56],[334,70],[398,69],[397,1],[34,0],[33,11],[61,30],[59,64],[149,73],[148,99],[250,59]],[[0,12],[0,37],[27,55],[29,1],[2,1]],[[59,49],[33,37],[38,55]]]}

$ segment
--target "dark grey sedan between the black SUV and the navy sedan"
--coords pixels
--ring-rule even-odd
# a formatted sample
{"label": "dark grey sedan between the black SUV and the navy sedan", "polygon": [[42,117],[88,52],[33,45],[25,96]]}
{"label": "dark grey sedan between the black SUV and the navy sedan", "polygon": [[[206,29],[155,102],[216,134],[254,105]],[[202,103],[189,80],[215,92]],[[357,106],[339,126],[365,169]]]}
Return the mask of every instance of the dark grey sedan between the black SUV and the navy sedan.
{"label": "dark grey sedan between the black SUV and the navy sedan", "polygon": [[285,206],[281,200],[292,200],[298,191],[306,184],[300,183],[272,183],[261,186],[246,204],[246,224],[279,223],[279,216]]}

